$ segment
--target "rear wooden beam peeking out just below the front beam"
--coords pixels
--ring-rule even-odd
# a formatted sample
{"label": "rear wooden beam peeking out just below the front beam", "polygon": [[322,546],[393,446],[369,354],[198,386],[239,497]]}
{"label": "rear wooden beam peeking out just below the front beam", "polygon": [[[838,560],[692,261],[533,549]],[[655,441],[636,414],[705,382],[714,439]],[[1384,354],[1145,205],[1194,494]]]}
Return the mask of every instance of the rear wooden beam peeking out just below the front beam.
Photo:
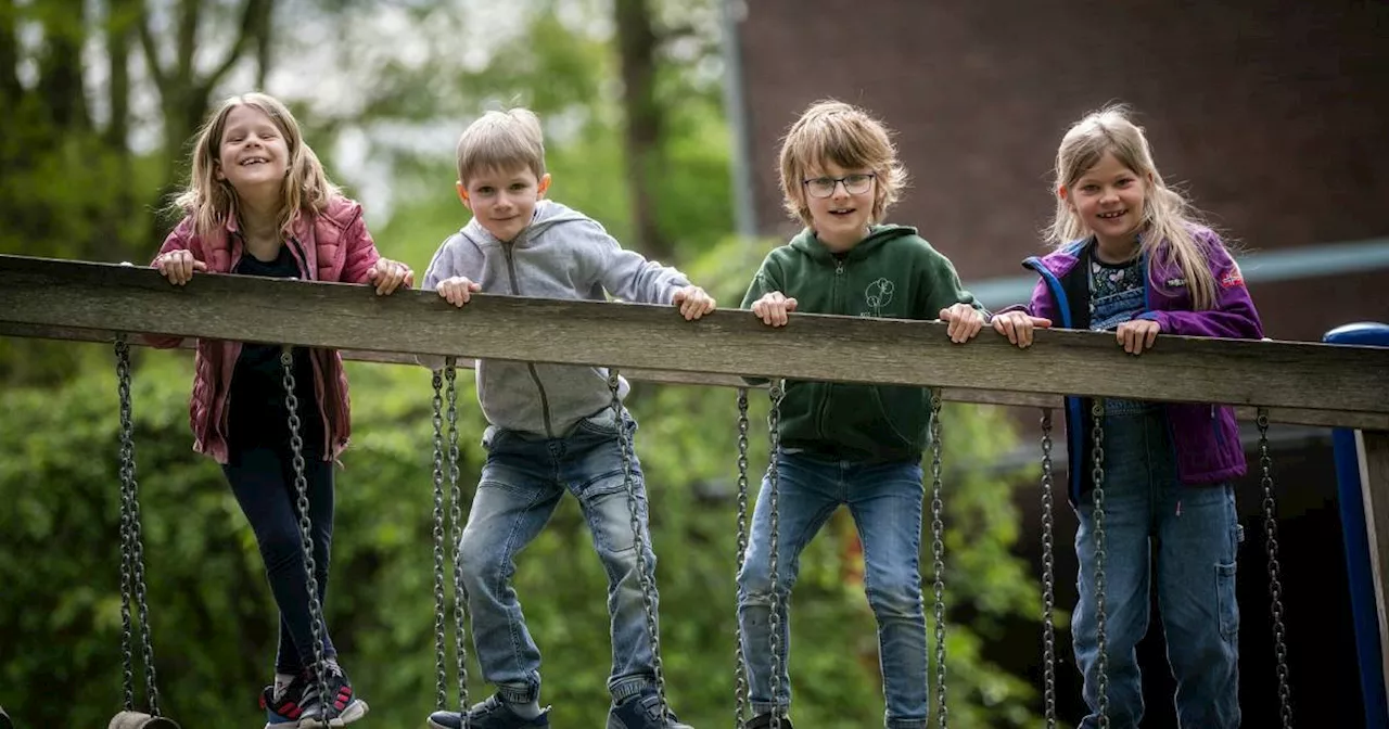
{"label": "rear wooden beam peeking out just below the front beam", "polygon": [[[65,342],[86,342],[110,344],[115,340],[113,332],[100,329],[78,329],[74,326],[39,326],[32,324],[0,322],[0,336],[57,339]],[[131,344],[144,346],[140,337],[132,337]],[[182,349],[192,350],[193,340],[189,339]],[[417,367],[413,354],[396,354],[390,351],[358,351],[340,350],[344,360],[357,362],[400,364]],[[460,360],[460,368],[471,369],[472,360]],[[622,376],[636,382],[654,382],[660,385],[697,385],[704,387],[746,387],[742,378],[732,375],[708,375],[704,372],[671,372],[661,369],[622,369]],[[760,389],[760,387],[758,387]],[[1010,393],[1001,390],[976,390],[972,387],[946,387],[942,399],[949,403],[974,403],[981,405],[1007,405],[1022,408],[1050,408],[1063,407],[1063,399],[1054,394],[1040,393]],[[1242,421],[1253,422],[1258,417],[1258,408],[1236,407],[1235,415]],[[1335,410],[1295,410],[1272,408],[1268,411],[1270,422],[1286,425],[1311,425],[1318,428],[1364,428],[1370,430],[1389,430],[1389,415],[1376,412],[1342,412]]]}

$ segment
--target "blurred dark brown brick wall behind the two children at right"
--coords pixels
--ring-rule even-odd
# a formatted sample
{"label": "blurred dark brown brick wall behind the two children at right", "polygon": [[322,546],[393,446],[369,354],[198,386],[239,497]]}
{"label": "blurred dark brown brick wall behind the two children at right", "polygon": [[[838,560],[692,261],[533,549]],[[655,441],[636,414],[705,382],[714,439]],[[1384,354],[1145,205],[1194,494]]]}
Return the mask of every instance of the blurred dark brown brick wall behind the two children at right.
{"label": "blurred dark brown brick wall behind the two children at right", "polygon": [[[1158,168],[1254,251],[1389,236],[1389,3],[751,0],[742,25],[756,208],[779,204],[776,146],[811,101],[897,132],[914,183],[895,222],[965,280],[1018,275],[1053,210],[1070,122],[1121,100]],[[1271,336],[1389,319],[1389,271],[1317,304],[1256,285]],[[1274,296],[1276,287],[1278,296]],[[1299,312],[1320,305],[1324,315]]]}

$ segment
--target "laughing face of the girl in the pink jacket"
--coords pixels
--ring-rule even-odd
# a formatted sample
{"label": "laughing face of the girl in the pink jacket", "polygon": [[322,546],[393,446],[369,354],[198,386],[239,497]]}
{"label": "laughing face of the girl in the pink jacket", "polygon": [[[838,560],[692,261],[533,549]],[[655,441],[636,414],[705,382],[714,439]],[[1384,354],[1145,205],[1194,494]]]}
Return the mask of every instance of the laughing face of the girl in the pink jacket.
{"label": "laughing face of the girl in the pink jacket", "polygon": [[283,131],[261,110],[239,106],[226,115],[217,156],[217,179],[240,197],[278,197],[289,171]]}

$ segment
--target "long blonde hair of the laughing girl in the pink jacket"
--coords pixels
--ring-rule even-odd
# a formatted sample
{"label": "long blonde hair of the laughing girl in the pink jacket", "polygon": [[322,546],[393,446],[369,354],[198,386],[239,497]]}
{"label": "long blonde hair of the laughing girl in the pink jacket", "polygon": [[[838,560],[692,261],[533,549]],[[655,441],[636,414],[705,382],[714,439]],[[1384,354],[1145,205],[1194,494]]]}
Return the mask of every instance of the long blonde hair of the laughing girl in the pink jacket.
{"label": "long blonde hair of the laughing girl in the pink jacket", "polygon": [[225,179],[217,179],[226,117],[238,107],[251,107],[269,117],[289,149],[283,204],[276,221],[279,231],[288,231],[297,212],[322,212],[333,197],[342,194],[329,182],[318,156],[304,143],[299,122],[282,101],[264,93],[233,96],[222,101],[199,129],[188,189],[174,200],[181,214],[193,218],[194,233],[207,235],[239,214],[236,190]]}

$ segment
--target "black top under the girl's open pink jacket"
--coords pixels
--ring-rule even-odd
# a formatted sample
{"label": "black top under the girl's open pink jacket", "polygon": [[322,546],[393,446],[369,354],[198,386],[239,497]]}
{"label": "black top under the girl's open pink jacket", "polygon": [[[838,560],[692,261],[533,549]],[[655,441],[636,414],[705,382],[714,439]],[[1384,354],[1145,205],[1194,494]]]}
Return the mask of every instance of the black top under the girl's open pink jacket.
{"label": "black top under the girl's open pink jacket", "polygon": [[[299,264],[281,246],[274,261],[261,261],[246,253],[236,264],[236,274],[247,276],[297,278]],[[228,440],[232,449],[269,446],[289,449],[289,410],[285,404],[285,368],[279,344],[246,343],[236,358],[228,400]],[[314,393],[314,364],[304,347],[293,349],[294,397],[299,400],[299,435],[306,457],[324,451],[324,419]]]}

